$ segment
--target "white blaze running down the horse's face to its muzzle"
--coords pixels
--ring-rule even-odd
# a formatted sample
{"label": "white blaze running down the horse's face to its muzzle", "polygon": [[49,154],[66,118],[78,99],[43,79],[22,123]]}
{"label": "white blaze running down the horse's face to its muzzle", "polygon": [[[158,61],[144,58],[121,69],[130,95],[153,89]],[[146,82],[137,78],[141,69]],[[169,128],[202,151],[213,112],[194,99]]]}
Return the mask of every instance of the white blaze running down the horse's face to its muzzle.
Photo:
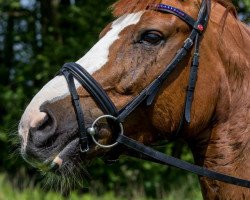
{"label": "white blaze running down the horse's face to its muzzle", "polygon": [[[137,24],[144,12],[124,15],[112,23],[111,30],[99,40],[84,57],[77,63],[84,67],[90,74],[101,69],[108,62],[109,50],[111,45],[119,39],[119,34],[126,27]],[[76,88],[80,84],[76,81]],[[44,119],[45,113],[40,111],[40,106],[46,102],[54,102],[69,95],[68,86],[63,76],[57,76],[48,82],[32,99],[26,108],[19,126],[19,134],[23,136],[24,147],[27,145],[28,132],[30,126],[35,126],[39,120]],[[35,120],[35,121],[34,121]]]}

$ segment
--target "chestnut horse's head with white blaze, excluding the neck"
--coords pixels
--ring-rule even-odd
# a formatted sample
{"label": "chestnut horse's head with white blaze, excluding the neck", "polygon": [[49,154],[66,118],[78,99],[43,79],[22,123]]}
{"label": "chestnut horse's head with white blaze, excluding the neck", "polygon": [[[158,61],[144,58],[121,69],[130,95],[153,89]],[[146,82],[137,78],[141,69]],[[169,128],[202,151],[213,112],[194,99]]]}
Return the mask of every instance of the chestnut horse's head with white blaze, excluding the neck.
{"label": "chestnut horse's head with white blaze, excluding the neck", "polygon": [[[163,8],[160,9],[159,3],[169,6],[167,13]],[[181,57],[174,70],[157,87],[152,98],[142,99],[142,103],[119,123],[116,122],[117,116],[105,117],[107,110],[103,110],[93,98],[92,89],[82,87],[77,75],[69,73],[70,65],[66,66],[66,71],[62,70],[61,74],[37,93],[22,116],[19,134],[23,157],[36,167],[48,169],[52,165],[63,172],[67,165],[77,167],[79,160],[84,164],[95,157],[108,155],[110,148],[102,148],[101,145],[113,144],[117,129],[144,144],[172,139],[178,132],[177,137],[186,140],[193,151],[196,151],[194,154],[197,163],[213,168],[205,162],[206,156],[209,156],[207,150],[213,151],[209,149],[209,141],[211,138],[217,141],[216,134],[213,135],[216,132],[215,124],[219,124],[217,129],[225,128],[222,124],[228,122],[230,115],[227,112],[234,99],[229,89],[231,79],[227,76],[230,70],[225,67],[228,58],[222,49],[225,47],[230,51],[235,41],[230,40],[231,36],[226,31],[223,34],[228,37],[227,41],[220,37],[221,19],[223,13],[227,12],[221,4],[212,3],[207,27],[202,26],[205,22],[195,23],[203,4],[207,4],[207,1],[120,0],[113,7],[117,19],[106,26],[100,34],[100,40],[76,62],[76,70],[84,70],[83,76],[87,76],[86,79],[91,77],[90,79],[98,82],[97,93],[101,87],[101,91],[107,95],[106,99],[111,102],[111,107],[115,107],[114,115],[119,117],[119,110],[129,109],[126,105],[131,106],[130,102],[145,88],[149,88],[181,49],[186,48],[185,45],[189,42],[187,38],[191,37],[190,33],[195,28],[199,35],[197,40],[200,41],[200,60],[197,80],[195,77],[196,87],[190,101],[190,119],[186,116],[183,122],[187,107],[187,86],[190,86],[190,66],[194,63],[193,55],[197,53],[195,48],[198,48],[192,46],[195,38],[191,47],[187,48],[186,55]],[[206,9],[209,13],[210,8]],[[190,18],[188,20],[194,19],[194,22],[182,19],[182,14],[187,15]],[[229,23],[232,26],[236,24],[236,19],[230,13],[224,26],[228,28]],[[237,30],[234,31],[233,35],[236,37]],[[241,28],[241,32],[244,38],[248,37],[247,28]],[[225,44],[228,48],[222,48],[220,44]],[[245,69],[249,72],[249,62],[245,63],[248,66]],[[72,85],[73,89],[70,88]],[[80,108],[72,106],[72,90],[77,94],[76,99],[79,97],[76,101]],[[150,101],[150,105],[146,105],[145,101]],[[83,112],[84,127],[95,129],[84,130],[87,132],[85,139],[88,151],[81,149],[78,109]],[[97,132],[92,136],[101,145],[93,142],[88,135],[91,131]]]}

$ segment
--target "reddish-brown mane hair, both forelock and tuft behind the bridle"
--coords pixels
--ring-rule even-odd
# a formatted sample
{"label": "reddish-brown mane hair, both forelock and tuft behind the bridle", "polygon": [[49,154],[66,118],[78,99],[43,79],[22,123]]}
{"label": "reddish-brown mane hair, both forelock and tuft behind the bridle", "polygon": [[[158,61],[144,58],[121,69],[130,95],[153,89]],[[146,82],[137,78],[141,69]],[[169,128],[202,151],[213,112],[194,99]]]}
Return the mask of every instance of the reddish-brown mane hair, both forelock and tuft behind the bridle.
{"label": "reddish-brown mane hair, both forelock and tuft behind the bridle", "polygon": [[[232,13],[235,17],[237,16],[236,8],[233,5],[232,0],[212,1],[223,5],[227,9],[226,13]],[[161,2],[162,0],[119,0],[111,6],[111,9],[113,10],[113,15],[119,17],[127,13],[145,10],[149,5]]]}

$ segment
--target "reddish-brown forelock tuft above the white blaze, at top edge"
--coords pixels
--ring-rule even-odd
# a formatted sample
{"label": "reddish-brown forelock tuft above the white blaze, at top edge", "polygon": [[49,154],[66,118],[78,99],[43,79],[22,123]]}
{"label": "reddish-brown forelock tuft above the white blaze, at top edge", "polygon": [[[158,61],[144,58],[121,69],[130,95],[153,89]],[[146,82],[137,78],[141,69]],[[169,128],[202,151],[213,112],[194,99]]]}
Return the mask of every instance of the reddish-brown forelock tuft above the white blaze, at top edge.
{"label": "reddish-brown forelock tuft above the white blaze, at top edge", "polygon": [[119,0],[111,6],[115,17],[145,10],[151,4],[158,4],[161,0]]}

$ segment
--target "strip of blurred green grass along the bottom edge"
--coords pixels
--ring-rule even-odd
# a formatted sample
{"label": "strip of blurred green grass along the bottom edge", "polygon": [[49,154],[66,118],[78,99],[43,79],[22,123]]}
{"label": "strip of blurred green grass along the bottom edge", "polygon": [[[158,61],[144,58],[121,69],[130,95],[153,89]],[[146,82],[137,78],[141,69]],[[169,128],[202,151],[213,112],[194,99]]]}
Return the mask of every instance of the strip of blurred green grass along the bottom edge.
{"label": "strip of blurred green grass along the bottom edge", "polygon": [[[27,182],[27,181],[26,181]],[[171,185],[171,184],[170,184]],[[91,193],[78,194],[73,191],[68,197],[64,197],[54,191],[44,191],[38,186],[26,186],[24,190],[14,188],[7,180],[6,175],[0,174],[0,200],[152,200],[147,198],[143,190],[138,187],[133,188],[132,196],[116,195],[115,191],[108,191],[102,195]],[[128,189],[129,190],[129,189]],[[179,185],[171,185],[168,192],[159,190],[159,197],[162,200],[201,200],[201,192],[195,175],[189,174],[185,181]],[[126,194],[126,192],[124,192]]]}

